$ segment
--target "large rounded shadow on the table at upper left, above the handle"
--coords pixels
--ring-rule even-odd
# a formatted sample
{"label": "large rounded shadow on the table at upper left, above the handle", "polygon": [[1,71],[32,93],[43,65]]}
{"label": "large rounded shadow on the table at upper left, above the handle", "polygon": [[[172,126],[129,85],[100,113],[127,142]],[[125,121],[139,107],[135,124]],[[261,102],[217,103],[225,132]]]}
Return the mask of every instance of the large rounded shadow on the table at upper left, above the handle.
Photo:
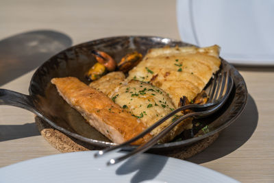
{"label": "large rounded shadow on the table at upper left, above the handle", "polygon": [[71,45],[69,36],[51,30],[25,32],[0,40],[0,86],[32,71]]}

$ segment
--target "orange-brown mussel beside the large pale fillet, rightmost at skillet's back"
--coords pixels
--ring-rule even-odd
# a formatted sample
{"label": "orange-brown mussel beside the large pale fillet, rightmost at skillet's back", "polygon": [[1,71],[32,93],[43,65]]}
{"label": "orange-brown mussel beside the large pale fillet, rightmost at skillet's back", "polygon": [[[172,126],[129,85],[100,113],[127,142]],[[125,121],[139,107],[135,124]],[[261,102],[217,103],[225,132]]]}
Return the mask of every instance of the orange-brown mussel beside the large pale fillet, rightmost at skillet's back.
{"label": "orange-brown mussel beside the large pale fillet, rightmost at skillet's back", "polygon": [[118,64],[119,71],[127,73],[142,60],[142,54],[134,51],[124,56]]}

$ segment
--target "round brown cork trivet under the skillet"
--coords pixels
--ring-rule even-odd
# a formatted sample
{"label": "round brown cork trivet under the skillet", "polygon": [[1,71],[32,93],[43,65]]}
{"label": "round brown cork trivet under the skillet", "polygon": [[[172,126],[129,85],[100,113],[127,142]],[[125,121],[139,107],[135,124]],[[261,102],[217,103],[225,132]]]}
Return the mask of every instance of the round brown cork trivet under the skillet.
{"label": "round brown cork trivet under the skillet", "polygon": [[[62,132],[55,130],[51,125],[47,122],[43,121],[39,117],[35,118],[36,125],[40,134],[53,146],[55,149],[62,153],[66,152],[74,152],[74,151],[88,151],[88,150],[98,150],[101,149],[99,147],[95,147],[88,143],[84,143],[82,141],[77,140],[71,136],[66,136]],[[160,154],[164,156],[169,156],[173,158],[186,159],[198,154],[199,152],[206,149],[209,145],[211,145],[219,136],[219,133],[209,136],[197,143],[192,145],[182,147],[182,149],[177,149],[168,152],[154,152],[153,154]]]}

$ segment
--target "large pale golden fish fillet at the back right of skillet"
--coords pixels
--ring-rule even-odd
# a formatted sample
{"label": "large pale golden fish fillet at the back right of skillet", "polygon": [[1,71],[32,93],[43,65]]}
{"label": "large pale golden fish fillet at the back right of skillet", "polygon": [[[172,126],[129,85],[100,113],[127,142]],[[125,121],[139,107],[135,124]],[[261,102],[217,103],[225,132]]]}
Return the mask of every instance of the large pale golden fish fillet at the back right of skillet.
{"label": "large pale golden fish fillet at the back right of skillet", "polygon": [[177,106],[180,97],[194,99],[219,70],[219,46],[164,47],[150,49],[145,58],[129,71],[127,80],[151,82]]}

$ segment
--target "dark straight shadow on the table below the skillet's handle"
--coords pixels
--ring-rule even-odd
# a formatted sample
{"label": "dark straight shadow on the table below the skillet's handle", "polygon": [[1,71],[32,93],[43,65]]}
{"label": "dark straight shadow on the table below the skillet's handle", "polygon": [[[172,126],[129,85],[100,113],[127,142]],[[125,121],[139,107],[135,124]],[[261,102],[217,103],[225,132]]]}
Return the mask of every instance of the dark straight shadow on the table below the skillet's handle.
{"label": "dark straight shadow on the table below the skillet's handle", "polygon": [[39,135],[40,132],[35,123],[25,123],[24,125],[0,125],[0,142]]}

